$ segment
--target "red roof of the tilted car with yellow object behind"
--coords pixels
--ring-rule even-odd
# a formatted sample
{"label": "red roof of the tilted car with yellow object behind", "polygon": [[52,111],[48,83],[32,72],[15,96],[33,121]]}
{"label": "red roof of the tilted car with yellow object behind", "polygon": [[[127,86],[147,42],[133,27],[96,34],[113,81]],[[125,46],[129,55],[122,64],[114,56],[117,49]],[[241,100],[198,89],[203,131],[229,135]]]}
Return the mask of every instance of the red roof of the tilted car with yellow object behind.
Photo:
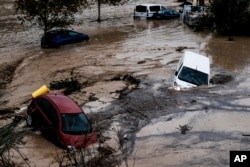
{"label": "red roof of the tilted car with yellow object behind", "polygon": [[41,98],[48,99],[54,105],[57,106],[61,113],[81,113],[83,110],[78,106],[71,98],[63,94],[46,93]]}

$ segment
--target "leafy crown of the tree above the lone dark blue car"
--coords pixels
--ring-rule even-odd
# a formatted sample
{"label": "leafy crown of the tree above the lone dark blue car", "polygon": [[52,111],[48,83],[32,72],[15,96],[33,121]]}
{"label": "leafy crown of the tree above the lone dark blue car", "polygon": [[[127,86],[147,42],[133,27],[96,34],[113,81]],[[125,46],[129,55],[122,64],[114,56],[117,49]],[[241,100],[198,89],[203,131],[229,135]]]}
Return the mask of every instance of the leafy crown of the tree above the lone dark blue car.
{"label": "leafy crown of the tree above the lone dark blue car", "polygon": [[44,33],[54,27],[74,24],[74,14],[87,6],[87,0],[15,0],[22,23],[38,25]]}

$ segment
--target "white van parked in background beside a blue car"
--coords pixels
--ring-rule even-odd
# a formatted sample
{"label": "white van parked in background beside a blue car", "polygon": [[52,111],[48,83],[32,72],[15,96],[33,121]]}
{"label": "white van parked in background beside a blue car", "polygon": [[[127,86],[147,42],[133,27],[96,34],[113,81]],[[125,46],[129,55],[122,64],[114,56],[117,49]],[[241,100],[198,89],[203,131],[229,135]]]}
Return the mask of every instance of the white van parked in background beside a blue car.
{"label": "white van parked in background beside a blue car", "polygon": [[152,18],[153,15],[160,10],[166,10],[166,8],[161,4],[136,5],[134,9],[134,18],[139,17],[149,19]]}

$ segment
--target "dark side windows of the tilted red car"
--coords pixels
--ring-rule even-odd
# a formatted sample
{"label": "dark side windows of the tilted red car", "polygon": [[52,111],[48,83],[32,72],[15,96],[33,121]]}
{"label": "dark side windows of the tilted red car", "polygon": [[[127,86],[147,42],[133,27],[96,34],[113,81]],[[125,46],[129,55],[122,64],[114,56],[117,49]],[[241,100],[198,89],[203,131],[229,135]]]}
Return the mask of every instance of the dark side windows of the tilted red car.
{"label": "dark side windows of the tilted red car", "polygon": [[42,109],[44,114],[48,117],[48,119],[51,121],[51,123],[55,127],[59,127],[58,114],[53,105],[48,100],[42,98],[37,100],[37,104]]}

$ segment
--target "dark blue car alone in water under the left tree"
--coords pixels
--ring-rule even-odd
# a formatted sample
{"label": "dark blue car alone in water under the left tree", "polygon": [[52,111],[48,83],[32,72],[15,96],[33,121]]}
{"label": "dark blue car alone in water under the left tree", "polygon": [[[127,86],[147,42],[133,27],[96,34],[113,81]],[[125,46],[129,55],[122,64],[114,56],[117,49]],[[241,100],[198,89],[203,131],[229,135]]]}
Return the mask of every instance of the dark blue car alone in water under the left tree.
{"label": "dark blue car alone in water under the left tree", "polygon": [[88,41],[87,34],[78,33],[72,30],[57,29],[45,33],[41,40],[42,48],[58,48],[61,45]]}

